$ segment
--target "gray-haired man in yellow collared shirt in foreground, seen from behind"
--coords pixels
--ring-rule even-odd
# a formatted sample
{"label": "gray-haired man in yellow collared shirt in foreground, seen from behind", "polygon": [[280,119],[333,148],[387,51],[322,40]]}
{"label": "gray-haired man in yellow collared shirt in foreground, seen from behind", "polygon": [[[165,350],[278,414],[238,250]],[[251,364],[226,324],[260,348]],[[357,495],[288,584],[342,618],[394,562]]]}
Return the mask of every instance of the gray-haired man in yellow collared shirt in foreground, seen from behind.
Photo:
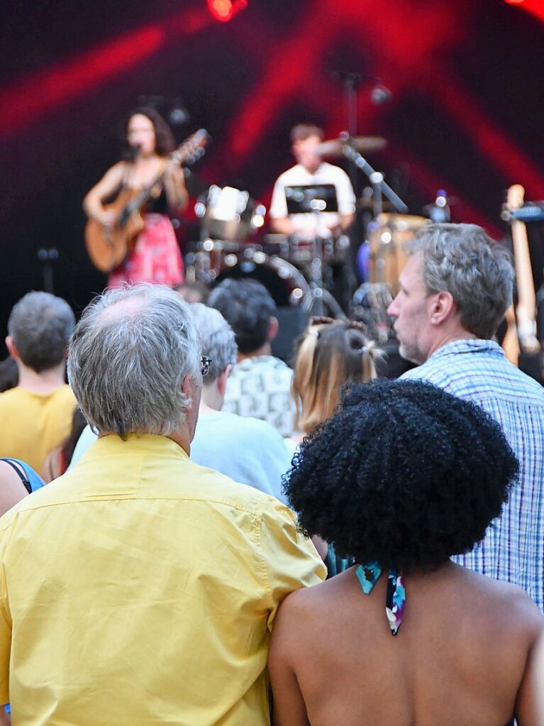
{"label": "gray-haired man in yellow collared shirt in foreground, seen from behind", "polygon": [[200,354],[162,285],[110,290],[75,328],[68,374],[99,439],[0,520],[17,724],[269,723],[276,610],[325,571],[287,507],[189,460]]}

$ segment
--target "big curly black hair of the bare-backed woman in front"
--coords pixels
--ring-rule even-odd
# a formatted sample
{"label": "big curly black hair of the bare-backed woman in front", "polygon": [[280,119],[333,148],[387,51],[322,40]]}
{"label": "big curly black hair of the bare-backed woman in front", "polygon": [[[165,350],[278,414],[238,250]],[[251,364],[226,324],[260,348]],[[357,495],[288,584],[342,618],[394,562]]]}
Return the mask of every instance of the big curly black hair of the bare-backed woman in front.
{"label": "big curly black hair of the bare-backed woman in front", "polygon": [[430,383],[378,380],[345,389],[284,486],[305,534],[358,563],[409,573],[471,550],[518,473],[483,409]]}

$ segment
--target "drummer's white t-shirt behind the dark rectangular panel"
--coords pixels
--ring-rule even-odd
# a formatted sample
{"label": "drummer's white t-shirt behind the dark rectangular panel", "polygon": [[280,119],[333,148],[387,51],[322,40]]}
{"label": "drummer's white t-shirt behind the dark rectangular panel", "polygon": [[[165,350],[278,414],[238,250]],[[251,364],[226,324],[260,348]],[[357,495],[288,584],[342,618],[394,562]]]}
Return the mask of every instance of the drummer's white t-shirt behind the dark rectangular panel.
{"label": "drummer's white t-shirt behind the dark rectangular panel", "polygon": [[329,237],[327,227],[339,224],[341,214],[355,212],[355,195],[351,186],[350,177],[339,166],[322,161],[314,174],[305,169],[302,164],[292,166],[280,174],[274,184],[270,216],[272,219],[289,217],[296,227],[296,234],[316,233],[316,214],[288,214],[285,187],[301,187],[307,184],[334,184],[337,190],[338,212],[321,212],[319,215],[318,234]]}

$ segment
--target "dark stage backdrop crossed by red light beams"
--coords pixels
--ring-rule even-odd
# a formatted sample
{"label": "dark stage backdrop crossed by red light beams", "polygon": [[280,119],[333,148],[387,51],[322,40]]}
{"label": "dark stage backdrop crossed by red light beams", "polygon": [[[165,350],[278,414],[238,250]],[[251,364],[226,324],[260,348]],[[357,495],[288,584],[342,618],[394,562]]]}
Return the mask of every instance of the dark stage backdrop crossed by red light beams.
{"label": "dark stage backdrop crossed by red light beams", "polygon": [[[0,43],[0,327],[43,286],[39,248],[55,247],[54,291],[76,310],[105,277],[83,247],[86,191],[119,157],[120,122],[139,97],[179,97],[213,144],[195,172],[268,205],[290,166],[288,134],[347,126],[335,71],[363,75],[358,132],[368,158],[410,206],[439,188],[453,221],[500,237],[509,184],[544,199],[544,13],[536,0],[248,0],[229,23],[206,0],[40,0],[3,7]],[[540,15],[542,17],[538,17]],[[371,78],[368,78],[371,77]],[[379,78],[392,100],[373,105]],[[161,107],[160,107],[161,108]],[[362,185],[360,179],[359,184]],[[181,240],[194,239],[191,219]]]}

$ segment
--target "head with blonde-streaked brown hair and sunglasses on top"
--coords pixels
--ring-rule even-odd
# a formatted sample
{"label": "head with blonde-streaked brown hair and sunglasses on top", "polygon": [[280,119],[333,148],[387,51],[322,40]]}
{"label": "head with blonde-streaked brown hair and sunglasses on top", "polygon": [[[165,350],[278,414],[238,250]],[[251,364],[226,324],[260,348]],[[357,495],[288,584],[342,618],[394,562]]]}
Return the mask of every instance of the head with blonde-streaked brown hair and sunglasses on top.
{"label": "head with blonde-streaked brown hair and sunglasses on top", "polygon": [[312,431],[332,415],[342,386],[376,378],[377,354],[359,322],[336,320],[310,325],[295,344],[295,427]]}

